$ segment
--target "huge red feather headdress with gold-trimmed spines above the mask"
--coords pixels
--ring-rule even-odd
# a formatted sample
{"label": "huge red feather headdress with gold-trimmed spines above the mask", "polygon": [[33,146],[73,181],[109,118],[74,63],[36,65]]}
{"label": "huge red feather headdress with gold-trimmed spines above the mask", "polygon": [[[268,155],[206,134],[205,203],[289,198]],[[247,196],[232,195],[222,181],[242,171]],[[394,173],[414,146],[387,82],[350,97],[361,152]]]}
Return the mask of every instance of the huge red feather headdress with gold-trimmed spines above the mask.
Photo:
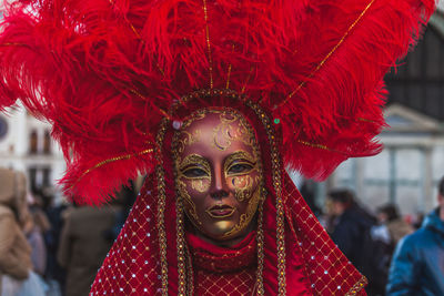
{"label": "huge red feather headdress with gold-trimmed spines above the mask", "polygon": [[[23,0],[0,35],[0,109],[46,119],[70,195],[100,203],[154,167],[155,130],[195,90],[230,89],[282,124],[286,165],[322,180],[373,155],[382,78],[434,0]],[[208,102],[211,104],[211,102]]]}

